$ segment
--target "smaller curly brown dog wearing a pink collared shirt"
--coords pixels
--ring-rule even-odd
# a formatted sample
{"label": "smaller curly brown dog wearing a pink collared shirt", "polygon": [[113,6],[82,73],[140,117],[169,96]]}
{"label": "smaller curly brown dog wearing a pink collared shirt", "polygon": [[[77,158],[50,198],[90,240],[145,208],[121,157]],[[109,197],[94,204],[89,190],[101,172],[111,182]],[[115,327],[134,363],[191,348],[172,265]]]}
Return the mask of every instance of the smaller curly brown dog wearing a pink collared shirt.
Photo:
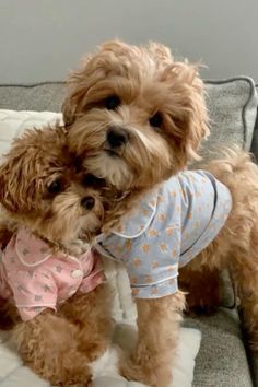
{"label": "smaller curly brown dog wearing a pink collared shirt", "polygon": [[[98,256],[99,194],[83,187],[62,127],[27,130],[0,165],[2,230],[0,326],[26,365],[58,386],[91,384],[89,363],[112,329],[110,292]],[[12,235],[13,233],[13,235]]]}

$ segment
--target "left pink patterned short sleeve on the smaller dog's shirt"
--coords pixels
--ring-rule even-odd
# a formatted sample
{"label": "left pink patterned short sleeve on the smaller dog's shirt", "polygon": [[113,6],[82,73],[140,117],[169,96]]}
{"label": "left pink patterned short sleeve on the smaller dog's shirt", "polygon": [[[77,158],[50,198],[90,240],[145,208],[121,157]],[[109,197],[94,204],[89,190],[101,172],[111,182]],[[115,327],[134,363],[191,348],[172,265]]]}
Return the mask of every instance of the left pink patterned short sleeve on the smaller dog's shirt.
{"label": "left pink patterned short sleeve on the smaller dog's shirt", "polygon": [[10,270],[8,274],[15,305],[24,321],[46,308],[56,310],[57,284],[50,272],[39,266]]}

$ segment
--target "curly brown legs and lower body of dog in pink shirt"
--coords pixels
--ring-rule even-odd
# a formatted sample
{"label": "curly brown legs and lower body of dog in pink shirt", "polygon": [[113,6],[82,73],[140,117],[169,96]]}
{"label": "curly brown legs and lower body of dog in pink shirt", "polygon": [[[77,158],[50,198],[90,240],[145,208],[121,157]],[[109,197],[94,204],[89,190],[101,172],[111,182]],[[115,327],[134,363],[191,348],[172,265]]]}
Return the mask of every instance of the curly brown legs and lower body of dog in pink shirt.
{"label": "curly brown legs and lower body of dog in pink shirt", "polygon": [[34,372],[55,386],[90,386],[89,363],[109,343],[110,290],[75,294],[57,314],[46,310],[15,326],[12,341]]}

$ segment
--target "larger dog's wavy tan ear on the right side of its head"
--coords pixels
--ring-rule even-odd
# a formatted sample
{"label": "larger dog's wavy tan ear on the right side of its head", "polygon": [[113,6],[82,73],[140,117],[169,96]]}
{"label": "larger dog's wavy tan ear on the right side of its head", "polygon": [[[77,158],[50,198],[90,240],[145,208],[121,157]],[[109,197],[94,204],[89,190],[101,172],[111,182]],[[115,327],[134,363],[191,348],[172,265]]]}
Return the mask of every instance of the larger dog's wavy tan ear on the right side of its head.
{"label": "larger dog's wavy tan ear on the right side of its head", "polygon": [[204,84],[199,77],[198,66],[187,61],[169,64],[163,72],[163,79],[169,84],[167,104],[171,104],[178,157],[186,165],[188,161],[199,159],[199,144],[210,133]]}

